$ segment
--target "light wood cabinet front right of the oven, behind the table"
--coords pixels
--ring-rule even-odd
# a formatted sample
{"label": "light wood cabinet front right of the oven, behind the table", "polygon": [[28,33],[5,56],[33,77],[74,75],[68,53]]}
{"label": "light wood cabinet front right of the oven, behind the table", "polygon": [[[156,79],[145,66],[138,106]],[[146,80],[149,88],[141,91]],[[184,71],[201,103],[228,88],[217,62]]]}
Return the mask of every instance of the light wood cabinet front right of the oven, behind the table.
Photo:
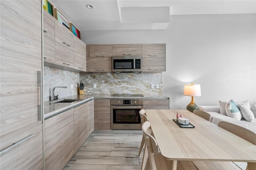
{"label": "light wood cabinet front right of the oven, behind the table", "polygon": [[169,109],[169,99],[143,99],[143,109]]}

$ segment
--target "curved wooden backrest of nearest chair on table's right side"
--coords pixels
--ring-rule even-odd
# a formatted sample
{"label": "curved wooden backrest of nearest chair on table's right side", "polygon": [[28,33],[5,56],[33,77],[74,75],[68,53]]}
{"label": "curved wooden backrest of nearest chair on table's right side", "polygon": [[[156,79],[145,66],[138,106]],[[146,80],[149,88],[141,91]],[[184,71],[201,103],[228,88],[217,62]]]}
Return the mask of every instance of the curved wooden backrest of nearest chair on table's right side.
{"label": "curved wooden backrest of nearest chair on table's right side", "polygon": [[252,132],[251,130],[224,121],[219,122],[218,126],[256,145],[256,133]]}

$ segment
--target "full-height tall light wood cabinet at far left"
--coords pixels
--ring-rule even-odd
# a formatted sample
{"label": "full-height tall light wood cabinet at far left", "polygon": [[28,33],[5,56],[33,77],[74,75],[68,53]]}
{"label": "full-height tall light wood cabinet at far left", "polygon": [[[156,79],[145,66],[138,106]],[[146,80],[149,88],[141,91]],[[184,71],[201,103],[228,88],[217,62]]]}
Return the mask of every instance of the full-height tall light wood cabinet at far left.
{"label": "full-height tall light wood cabinet at far left", "polygon": [[0,6],[1,170],[41,169],[41,90],[36,86],[42,71],[41,1],[1,0]]}

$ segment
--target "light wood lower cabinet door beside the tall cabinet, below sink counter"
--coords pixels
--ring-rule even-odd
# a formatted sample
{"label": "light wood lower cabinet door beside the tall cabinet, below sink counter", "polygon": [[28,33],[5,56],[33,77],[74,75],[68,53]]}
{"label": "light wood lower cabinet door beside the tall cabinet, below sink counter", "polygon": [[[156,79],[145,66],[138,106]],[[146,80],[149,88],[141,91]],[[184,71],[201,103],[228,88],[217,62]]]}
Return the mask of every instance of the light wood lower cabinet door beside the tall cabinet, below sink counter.
{"label": "light wood lower cabinet door beside the tall cabinet, below sink counter", "polygon": [[63,169],[74,155],[74,109],[50,117],[45,125],[45,169]]}

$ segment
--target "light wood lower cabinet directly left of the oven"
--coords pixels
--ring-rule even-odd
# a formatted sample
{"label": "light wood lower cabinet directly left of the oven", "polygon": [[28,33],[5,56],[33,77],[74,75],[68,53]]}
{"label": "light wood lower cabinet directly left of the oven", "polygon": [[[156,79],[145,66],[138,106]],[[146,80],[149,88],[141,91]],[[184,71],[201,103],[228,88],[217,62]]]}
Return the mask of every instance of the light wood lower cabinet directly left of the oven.
{"label": "light wood lower cabinet directly left of the oven", "polygon": [[94,100],[94,129],[110,129],[110,99]]}

